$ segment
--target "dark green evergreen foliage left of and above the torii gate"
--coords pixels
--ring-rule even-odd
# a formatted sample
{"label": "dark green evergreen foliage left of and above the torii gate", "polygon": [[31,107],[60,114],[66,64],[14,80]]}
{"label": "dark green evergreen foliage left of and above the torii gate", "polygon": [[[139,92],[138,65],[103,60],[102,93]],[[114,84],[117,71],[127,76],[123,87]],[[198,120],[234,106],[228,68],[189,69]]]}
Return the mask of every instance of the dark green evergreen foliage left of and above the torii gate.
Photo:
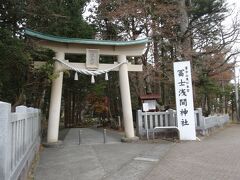
{"label": "dark green evergreen foliage left of and above the torii gate", "polygon": [[[0,100],[41,106],[53,74],[54,52],[26,41],[22,27],[67,37],[91,38],[83,19],[87,0],[8,0],[0,9]],[[33,61],[46,64],[35,69]],[[49,99],[47,99],[48,101]]]}

